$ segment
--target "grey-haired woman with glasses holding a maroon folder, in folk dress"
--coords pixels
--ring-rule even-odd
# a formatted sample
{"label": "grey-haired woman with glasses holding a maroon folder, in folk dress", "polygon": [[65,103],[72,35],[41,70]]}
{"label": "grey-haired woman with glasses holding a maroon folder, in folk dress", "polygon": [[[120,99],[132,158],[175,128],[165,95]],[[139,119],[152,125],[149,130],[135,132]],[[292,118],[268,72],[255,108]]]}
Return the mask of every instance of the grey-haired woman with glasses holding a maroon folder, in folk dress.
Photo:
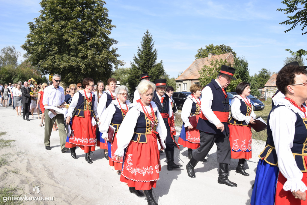
{"label": "grey-haired woman with glasses holding a maroon folder, in folk dress", "polygon": [[126,116],[128,110],[132,107],[132,104],[127,100],[128,88],[125,85],[120,85],[115,89],[116,100],[113,100],[108,108],[103,112],[105,117],[100,119],[99,131],[103,133],[104,140],[108,141],[108,129],[109,125],[115,128],[115,136],[112,141],[108,141],[108,152],[109,152],[109,164],[111,167],[117,170],[120,174],[122,170],[122,157],[117,160],[114,152],[117,149],[117,131],[122,124],[122,120]]}

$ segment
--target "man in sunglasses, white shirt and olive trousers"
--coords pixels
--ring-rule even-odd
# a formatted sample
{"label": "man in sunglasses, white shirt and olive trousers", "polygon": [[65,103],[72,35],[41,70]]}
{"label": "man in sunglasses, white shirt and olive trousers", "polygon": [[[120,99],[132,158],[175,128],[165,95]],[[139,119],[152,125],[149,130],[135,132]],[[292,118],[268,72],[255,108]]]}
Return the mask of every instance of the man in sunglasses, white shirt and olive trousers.
{"label": "man in sunglasses, white shirt and olive trousers", "polygon": [[[43,104],[44,106],[59,106],[65,104],[64,89],[59,86],[61,81],[61,76],[59,74],[54,74],[52,77],[53,84],[44,89]],[[55,116],[50,118],[49,112],[52,112]],[[45,147],[50,150],[50,135],[52,131],[52,126],[56,121],[59,128],[60,144],[62,153],[68,151],[65,148],[66,142],[66,131],[65,131],[65,120],[63,114],[57,114],[53,109],[45,109]]]}

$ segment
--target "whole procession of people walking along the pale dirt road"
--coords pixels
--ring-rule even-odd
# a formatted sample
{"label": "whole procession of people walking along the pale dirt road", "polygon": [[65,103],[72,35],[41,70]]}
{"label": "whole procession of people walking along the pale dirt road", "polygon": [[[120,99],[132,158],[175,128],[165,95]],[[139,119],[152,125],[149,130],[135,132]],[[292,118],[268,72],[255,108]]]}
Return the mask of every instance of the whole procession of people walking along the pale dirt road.
{"label": "whole procession of people walking along the pale dirt road", "polygon": [[[183,165],[177,163],[179,156],[174,154],[179,145],[188,150],[185,169],[191,178],[196,178],[194,168],[199,161],[207,161],[214,144],[219,163],[217,183],[238,186],[228,179],[231,159],[238,159],[235,172],[241,177],[249,176],[244,165],[252,157],[251,126],[256,124],[256,114],[248,98],[249,82],[236,86],[237,94],[229,103],[226,89],[231,80],[237,80],[234,74],[235,68],[222,65],[216,79],[204,87],[190,86],[191,94],[181,110],[182,127],[177,129],[177,141],[177,106],[172,98],[175,90],[166,79],[155,79],[153,83],[148,73],[140,75],[132,102],[128,88],[115,78],[109,78],[105,86],[103,81],[95,85],[93,79],[86,77],[64,90],[59,86],[59,74],[53,75],[51,85],[41,84],[37,96],[31,93],[27,81],[23,86],[21,82],[16,84],[12,95],[17,116],[21,115],[22,104],[24,120],[29,120],[29,113],[33,118],[34,111],[40,119],[41,111],[46,150],[51,150],[50,135],[56,123],[62,153],[70,149],[72,158],[78,159],[79,147],[86,153],[87,163],[92,164],[92,153],[103,149],[104,157],[130,193],[145,196],[148,204],[157,204],[152,188],[161,178],[160,155],[165,153],[167,171],[183,170]],[[256,153],[260,159],[251,205],[307,204],[306,66],[296,61],[285,65],[277,75],[276,85],[278,92],[272,98],[274,106],[267,120],[266,147]],[[66,112],[58,112],[57,108]]]}

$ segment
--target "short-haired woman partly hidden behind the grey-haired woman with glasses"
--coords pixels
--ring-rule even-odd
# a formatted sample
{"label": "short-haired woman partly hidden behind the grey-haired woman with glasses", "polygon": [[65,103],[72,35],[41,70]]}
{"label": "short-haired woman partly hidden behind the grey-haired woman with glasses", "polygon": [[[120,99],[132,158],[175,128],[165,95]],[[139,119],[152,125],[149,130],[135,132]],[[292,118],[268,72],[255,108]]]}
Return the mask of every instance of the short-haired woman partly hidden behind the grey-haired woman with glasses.
{"label": "short-haired woman partly hidden behind the grey-haired woman with glasses", "polygon": [[[107,85],[109,85],[109,90],[104,92],[99,98],[99,103],[97,106],[97,113],[100,119],[106,117],[103,115],[103,111],[111,104],[112,101],[116,100],[116,95],[115,95],[115,89],[116,89],[116,79],[115,78],[109,78]],[[109,160],[109,155],[108,155],[108,144],[107,141],[105,141],[102,138],[102,133],[100,132],[99,136],[99,141],[97,140],[97,146],[100,147],[100,149],[104,149],[104,157]]]}

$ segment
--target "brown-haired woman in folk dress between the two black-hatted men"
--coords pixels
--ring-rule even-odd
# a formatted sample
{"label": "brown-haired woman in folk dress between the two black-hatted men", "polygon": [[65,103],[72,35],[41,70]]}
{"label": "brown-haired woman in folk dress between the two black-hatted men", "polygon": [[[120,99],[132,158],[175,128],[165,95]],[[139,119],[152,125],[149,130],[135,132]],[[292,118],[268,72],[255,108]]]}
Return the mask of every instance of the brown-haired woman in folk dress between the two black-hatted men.
{"label": "brown-haired woman in folk dress between the two black-hatted men", "polygon": [[[182,106],[181,119],[182,128],[179,135],[178,144],[182,144],[183,147],[188,148],[188,158],[192,158],[192,149],[199,147],[200,135],[199,130],[193,127],[189,122],[189,117],[196,116],[196,122],[200,117],[201,112],[201,86],[199,84],[193,84],[190,87],[191,95],[187,97],[185,103]],[[204,161],[207,161],[204,159]]]}

